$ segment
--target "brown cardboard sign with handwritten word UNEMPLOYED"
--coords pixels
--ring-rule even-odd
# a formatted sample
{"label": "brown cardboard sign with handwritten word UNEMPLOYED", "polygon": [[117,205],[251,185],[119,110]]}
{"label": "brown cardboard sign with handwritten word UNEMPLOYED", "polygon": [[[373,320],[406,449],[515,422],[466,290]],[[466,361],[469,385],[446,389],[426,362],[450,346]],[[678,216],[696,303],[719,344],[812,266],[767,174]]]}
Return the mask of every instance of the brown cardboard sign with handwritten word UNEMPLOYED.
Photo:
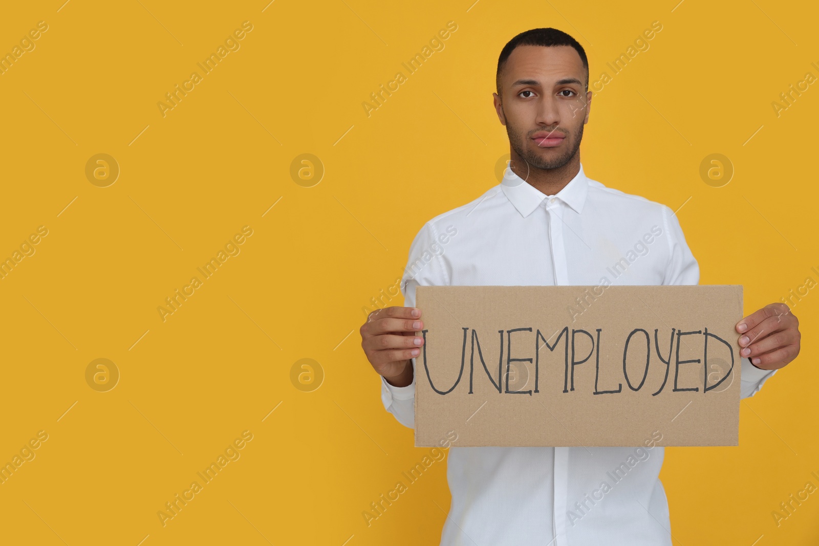
{"label": "brown cardboard sign with handwritten word UNEMPLOYED", "polygon": [[415,445],[737,445],[742,287],[417,287]]}

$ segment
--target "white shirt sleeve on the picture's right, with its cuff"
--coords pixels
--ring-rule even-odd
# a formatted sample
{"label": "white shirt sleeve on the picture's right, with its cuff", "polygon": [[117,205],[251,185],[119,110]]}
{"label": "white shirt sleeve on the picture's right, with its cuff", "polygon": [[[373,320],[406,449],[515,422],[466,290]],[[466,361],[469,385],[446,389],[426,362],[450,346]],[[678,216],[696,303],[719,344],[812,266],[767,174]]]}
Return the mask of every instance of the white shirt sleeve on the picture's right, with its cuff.
{"label": "white shirt sleeve on the picture's right, with its cuff", "polygon": [[[671,251],[663,284],[699,284],[699,264],[686,243],[679,219],[667,206],[663,206],[663,224]],[[757,368],[749,359],[740,357],[740,363],[740,398],[757,394],[765,381],[776,373],[776,370]]]}

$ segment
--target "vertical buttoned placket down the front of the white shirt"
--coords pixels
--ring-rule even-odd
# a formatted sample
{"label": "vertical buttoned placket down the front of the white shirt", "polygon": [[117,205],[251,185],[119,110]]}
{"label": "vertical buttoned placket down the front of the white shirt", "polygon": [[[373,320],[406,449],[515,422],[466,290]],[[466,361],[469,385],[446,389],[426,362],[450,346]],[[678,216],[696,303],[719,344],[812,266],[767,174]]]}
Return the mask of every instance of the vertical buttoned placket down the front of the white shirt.
{"label": "vertical buttoned placket down the front of the white shirt", "polygon": [[[569,284],[568,264],[566,263],[566,246],[563,242],[563,203],[556,197],[544,200],[546,213],[549,214],[549,245],[551,251],[554,284]],[[553,546],[567,546],[566,541],[566,499],[568,499],[568,448],[554,448],[554,513]]]}

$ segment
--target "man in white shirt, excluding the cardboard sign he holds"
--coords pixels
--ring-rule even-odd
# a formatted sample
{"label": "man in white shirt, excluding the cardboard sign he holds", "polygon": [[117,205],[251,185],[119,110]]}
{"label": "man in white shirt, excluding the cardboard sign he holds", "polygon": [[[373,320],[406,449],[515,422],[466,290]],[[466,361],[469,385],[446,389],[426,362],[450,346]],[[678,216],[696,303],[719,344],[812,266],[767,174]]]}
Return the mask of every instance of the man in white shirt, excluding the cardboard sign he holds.
{"label": "man in white shirt, excluding the cardboard sign he holds", "polygon": [[[413,307],[419,285],[699,283],[699,265],[670,208],[586,178],[579,149],[588,83],[586,52],[559,30],[518,34],[500,53],[493,96],[511,148],[503,183],[424,224],[409,249],[406,307],[373,311],[360,329],[364,353],[382,376],[384,407],[405,426],[414,426],[415,357],[423,344],[414,336],[423,329]],[[645,234],[648,251],[611,278],[607,268],[649,240]],[[776,303],[743,318],[736,331],[741,395],[748,397],[799,354],[799,323]],[[453,444],[452,503],[441,544],[671,546],[658,479],[663,447],[650,442],[652,449],[640,446],[646,456],[604,495],[607,472],[634,448]]]}

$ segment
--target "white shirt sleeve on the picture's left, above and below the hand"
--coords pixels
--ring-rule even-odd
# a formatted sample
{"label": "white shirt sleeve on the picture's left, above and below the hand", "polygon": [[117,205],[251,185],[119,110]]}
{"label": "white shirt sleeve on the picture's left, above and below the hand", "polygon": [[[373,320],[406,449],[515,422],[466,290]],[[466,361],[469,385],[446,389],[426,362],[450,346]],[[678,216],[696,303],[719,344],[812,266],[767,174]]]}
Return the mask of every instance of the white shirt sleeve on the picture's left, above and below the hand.
{"label": "white shirt sleeve on the picture's left, above and below the hand", "polygon": [[[441,286],[450,284],[443,254],[446,235],[440,234],[425,223],[409,246],[409,259],[401,277],[401,293],[404,295],[404,306],[415,306],[415,288],[424,286]],[[423,309],[422,309],[423,311]],[[421,315],[423,320],[423,313]],[[394,386],[381,377],[381,401],[384,408],[392,413],[398,422],[409,428],[415,427],[415,359],[412,359],[413,379],[407,386]]]}

